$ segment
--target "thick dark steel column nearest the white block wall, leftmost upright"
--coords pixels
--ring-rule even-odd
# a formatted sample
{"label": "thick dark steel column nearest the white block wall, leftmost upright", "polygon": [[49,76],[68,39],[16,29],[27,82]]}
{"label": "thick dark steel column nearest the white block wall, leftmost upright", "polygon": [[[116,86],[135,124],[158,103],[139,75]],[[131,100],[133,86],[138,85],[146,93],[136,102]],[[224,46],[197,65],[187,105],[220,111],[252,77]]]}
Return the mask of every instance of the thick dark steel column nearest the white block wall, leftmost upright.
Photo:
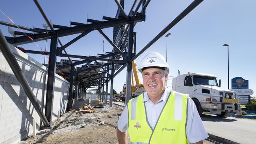
{"label": "thick dark steel column nearest the white block wall, leftmost upright", "polygon": [[53,36],[50,45],[50,58],[48,66],[48,78],[47,78],[47,91],[46,91],[46,103],[45,103],[45,116],[52,125],[52,107],[54,97],[54,82],[56,73],[56,53],[58,46],[58,37]]}

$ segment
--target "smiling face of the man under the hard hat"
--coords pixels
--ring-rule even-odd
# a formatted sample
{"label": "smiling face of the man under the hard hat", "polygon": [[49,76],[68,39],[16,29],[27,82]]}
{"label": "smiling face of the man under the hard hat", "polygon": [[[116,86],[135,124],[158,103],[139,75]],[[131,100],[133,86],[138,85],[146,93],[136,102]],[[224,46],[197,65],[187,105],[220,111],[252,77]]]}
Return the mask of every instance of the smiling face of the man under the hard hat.
{"label": "smiling face of the man under the hard hat", "polygon": [[168,74],[164,74],[162,69],[147,68],[143,70],[142,78],[148,96],[158,97],[163,95]]}

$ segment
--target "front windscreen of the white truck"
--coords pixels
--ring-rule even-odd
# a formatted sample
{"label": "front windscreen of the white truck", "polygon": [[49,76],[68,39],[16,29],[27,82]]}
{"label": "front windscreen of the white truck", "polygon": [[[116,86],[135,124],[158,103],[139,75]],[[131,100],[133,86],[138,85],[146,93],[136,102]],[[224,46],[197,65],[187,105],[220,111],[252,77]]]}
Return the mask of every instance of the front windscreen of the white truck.
{"label": "front windscreen of the white truck", "polygon": [[194,85],[214,85],[218,86],[216,78],[208,76],[193,76]]}

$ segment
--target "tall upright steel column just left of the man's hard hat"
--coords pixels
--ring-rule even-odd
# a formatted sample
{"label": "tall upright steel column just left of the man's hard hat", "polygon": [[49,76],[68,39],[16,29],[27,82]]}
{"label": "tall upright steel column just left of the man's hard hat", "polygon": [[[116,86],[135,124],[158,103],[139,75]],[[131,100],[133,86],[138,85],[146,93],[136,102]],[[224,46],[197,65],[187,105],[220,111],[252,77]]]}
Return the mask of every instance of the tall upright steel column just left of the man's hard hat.
{"label": "tall upright steel column just left of the man's hard hat", "polygon": [[131,99],[131,79],[132,79],[132,47],[133,47],[133,35],[134,35],[134,23],[129,24],[129,46],[128,46],[128,56],[127,56],[127,70],[126,70],[126,96],[125,103],[129,102]]}

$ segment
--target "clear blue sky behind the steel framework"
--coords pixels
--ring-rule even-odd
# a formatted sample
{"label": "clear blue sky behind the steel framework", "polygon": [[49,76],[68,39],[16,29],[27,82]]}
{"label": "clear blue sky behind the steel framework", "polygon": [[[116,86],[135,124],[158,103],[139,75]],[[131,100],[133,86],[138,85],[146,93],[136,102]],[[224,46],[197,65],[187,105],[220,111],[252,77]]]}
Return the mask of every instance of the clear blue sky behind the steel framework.
{"label": "clear blue sky behind the steel framework", "polygon": [[[165,26],[178,16],[192,0],[152,0],[146,9],[146,21],[139,22],[134,28],[137,32],[137,52],[150,42]],[[133,0],[126,0],[124,10],[130,11]],[[117,5],[114,0],[39,0],[47,17],[54,24],[70,26],[70,20],[86,23],[86,18],[102,20],[102,15],[115,17]],[[222,80],[222,87],[227,88],[227,48],[229,44],[229,75],[231,79],[242,77],[249,80],[249,89],[256,92],[256,1],[255,0],[205,0],[183,18],[168,33],[169,76],[200,72],[213,74]],[[45,20],[33,1],[8,0],[1,2],[0,10],[16,24],[26,27],[43,28]],[[10,22],[2,13],[0,20]],[[0,25],[4,35],[7,26]],[[13,28],[19,31],[18,29]],[[113,28],[103,30],[112,39]],[[77,35],[60,37],[63,44]],[[98,31],[92,31],[76,43],[66,48],[68,54],[96,55],[103,52],[104,37]],[[37,42],[43,49],[45,41]],[[49,50],[50,42],[48,42]],[[20,45],[28,50],[40,50],[35,44]],[[110,52],[112,46],[105,41],[104,50]],[[139,65],[148,52],[166,54],[166,38],[163,36],[146,50],[136,61]],[[43,63],[43,55],[29,54]],[[58,57],[58,61],[63,57]],[[121,91],[126,81],[126,70],[114,79],[114,89]],[[109,84],[110,85],[110,84]],[[105,88],[106,89],[106,88]],[[255,95],[255,94],[254,94]]]}

